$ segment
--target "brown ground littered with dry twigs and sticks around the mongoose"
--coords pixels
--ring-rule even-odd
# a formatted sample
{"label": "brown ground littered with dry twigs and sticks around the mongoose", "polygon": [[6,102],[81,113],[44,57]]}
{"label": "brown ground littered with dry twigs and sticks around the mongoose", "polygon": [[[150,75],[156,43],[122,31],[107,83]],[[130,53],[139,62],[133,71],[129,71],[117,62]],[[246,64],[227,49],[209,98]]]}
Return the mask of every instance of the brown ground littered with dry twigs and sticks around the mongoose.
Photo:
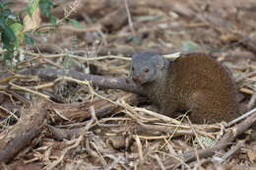
{"label": "brown ground littered with dry twigs and sticks around the mongoose", "polygon": [[[34,44],[21,46],[13,71],[1,64],[0,169],[256,170],[256,126],[248,126],[256,119],[255,0],[52,2],[58,25],[37,16]],[[77,72],[127,78],[139,51],[211,54],[232,73],[240,112],[254,109],[254,117],[195,125],[186,114],[149,111],[136,94],[78,79]],[[52,70],[20,74],[40,68],[76,72],[57,80]]]}

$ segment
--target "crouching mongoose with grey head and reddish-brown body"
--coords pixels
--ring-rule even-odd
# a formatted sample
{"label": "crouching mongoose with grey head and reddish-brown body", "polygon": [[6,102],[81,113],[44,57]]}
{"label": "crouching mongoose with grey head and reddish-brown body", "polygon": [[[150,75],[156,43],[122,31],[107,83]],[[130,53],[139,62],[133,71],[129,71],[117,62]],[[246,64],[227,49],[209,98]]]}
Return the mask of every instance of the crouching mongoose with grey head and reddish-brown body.
{"label": "crouching mongoose with grey head and reddish-brown body", "polygon": [[130,76],[160,114],[190,110],[190,120],[199,124],[238,116],[231,75],[207,54],[181,55],[170,61],[152,52],[137,53],[132,56]]}

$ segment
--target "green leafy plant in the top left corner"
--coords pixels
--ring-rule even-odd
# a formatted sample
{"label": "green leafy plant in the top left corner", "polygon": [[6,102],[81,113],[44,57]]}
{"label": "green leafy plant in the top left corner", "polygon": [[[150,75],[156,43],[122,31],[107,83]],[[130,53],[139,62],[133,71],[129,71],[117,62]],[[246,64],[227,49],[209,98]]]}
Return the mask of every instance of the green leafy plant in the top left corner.
{"label": "green leafy plant in the top left corner", "polygon": [[[32,38],[24,31],[24,25],[19,18],[12,13],[8,7],[10,2],[0,0],[0,40],[3,44],[4,52],[2,54],[3,61],[10,60],[14,55],[15,49],[20,47],[20,43],[25,40],[25,43],[32,43]],[[32,17],[36,8],[42,15],[49,18],[51,23],[56,23],[54,16],[50,14],[50,9],[53,4],[49,0],[31,0],[26,11]]]}

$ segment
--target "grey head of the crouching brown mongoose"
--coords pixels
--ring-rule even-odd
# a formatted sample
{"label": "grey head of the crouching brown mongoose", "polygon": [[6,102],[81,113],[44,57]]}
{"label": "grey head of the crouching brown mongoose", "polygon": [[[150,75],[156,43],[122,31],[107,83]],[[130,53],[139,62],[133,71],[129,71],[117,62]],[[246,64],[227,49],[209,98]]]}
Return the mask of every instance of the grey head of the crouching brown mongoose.
{"label": "grey head of the crouching brown mongoose", "polygon": [[132,55],[130,76],[139,85],[152,83],[160,78],[165,59],[157,53],[140,52]]}

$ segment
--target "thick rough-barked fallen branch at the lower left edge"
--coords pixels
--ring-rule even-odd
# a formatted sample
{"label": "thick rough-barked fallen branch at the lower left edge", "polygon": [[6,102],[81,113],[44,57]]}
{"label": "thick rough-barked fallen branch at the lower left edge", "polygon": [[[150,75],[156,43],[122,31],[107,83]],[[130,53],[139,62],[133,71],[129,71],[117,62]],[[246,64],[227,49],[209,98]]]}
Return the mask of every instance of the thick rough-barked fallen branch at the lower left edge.
{"label": "thick rough-barked fallen branch at the lower left edge", "polygon": [[46,102],[34,102],[24,110],[18,123],[0,134],[0,162],[8,162],[41,132]]}

